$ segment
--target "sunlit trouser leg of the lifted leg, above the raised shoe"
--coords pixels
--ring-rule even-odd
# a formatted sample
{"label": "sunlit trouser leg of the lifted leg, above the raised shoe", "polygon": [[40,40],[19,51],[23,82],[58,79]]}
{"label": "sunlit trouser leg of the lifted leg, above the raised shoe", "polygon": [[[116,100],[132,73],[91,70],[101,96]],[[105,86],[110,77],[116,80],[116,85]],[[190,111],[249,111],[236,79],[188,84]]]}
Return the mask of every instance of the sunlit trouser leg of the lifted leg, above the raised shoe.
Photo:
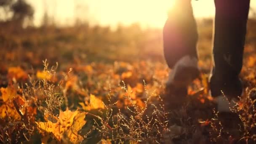
{"label": "sunlit trouser leg of the lifted leg, above the raised shoe", "polygon": [[180,3],[178,6],[186,11],[176,12],[177,10],[174,9],[173,13],[168,15],[163,27],[164,56],[171,69],[183,56],[189,55],[197,58],[197,25],[192,6],[190,1],[188,2]]}

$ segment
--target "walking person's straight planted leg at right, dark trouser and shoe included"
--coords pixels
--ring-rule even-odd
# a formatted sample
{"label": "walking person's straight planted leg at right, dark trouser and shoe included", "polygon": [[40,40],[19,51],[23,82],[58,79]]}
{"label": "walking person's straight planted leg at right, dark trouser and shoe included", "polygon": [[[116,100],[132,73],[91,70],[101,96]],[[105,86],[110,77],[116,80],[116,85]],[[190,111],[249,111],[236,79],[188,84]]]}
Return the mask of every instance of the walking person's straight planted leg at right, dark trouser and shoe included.
{"label": "walking person's straight planted leg at right, dark trouser and shoe included", "polygon": [[243,65],[249,5],[250,0],[215,0],[214,67],[210,90],[218,105],[218,119],[224,131],[234,139],[243,133],[240,117],[230,108],[235,106],[233,100],[243,92],[239,74]]}

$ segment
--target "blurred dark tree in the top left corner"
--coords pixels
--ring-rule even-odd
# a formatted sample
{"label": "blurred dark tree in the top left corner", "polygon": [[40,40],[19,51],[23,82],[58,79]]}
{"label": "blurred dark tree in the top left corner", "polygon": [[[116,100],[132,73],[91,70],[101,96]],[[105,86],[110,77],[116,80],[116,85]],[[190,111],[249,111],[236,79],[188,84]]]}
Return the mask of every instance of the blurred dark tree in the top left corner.
{"label": "blurred dark tree in the top left corner", "polygon": [[25,0],[0,0],[0,23],[23,27],[32,24],[34,9]]}

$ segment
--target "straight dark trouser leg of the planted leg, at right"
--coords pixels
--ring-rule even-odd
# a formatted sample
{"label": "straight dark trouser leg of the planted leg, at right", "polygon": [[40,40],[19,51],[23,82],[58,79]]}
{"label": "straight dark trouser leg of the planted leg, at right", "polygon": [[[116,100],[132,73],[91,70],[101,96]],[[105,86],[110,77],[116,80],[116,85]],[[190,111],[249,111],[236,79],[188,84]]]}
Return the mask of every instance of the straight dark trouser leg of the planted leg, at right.
{"label": "straight dark trouser leg of the planted leg, at right", "polygon": [[240,96],[238,77],[243,64],[246,23],[250,0],[215,0],[215,32],[210,88],[212,96]]}

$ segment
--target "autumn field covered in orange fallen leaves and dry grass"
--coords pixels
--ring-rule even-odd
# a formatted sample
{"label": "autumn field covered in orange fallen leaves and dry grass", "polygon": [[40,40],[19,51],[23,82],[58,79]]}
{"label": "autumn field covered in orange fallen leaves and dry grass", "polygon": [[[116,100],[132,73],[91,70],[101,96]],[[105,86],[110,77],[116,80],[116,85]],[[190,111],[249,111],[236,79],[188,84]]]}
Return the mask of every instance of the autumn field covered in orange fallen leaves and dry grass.
{"label": "autumn field covered in orange fallen leaves and dry grass", "polygon": [[254,144],[255,24],[248,21],[236,129],[220,123],[207,91],[211,20],[198,21],[201,76],[179,109],[163,100],[170,69],[161,29],[2,25],[0,143]]}

